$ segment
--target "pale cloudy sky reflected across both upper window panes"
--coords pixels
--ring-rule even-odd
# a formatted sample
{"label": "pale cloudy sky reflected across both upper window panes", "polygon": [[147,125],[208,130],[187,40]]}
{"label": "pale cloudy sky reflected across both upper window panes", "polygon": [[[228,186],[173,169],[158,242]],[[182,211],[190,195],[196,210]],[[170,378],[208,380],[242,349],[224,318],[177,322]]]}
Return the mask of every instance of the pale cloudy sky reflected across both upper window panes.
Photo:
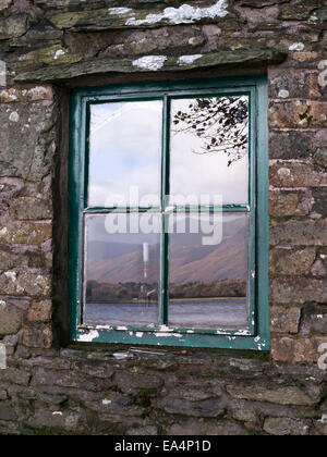
{"label": "pale cloudy sky reflected across both upper window panes", "polygon": [[[173,112],[189,104],[190,99],[173,100]],[[106,206],[117,194],[128,200],[131,186],[138,186],[141,197],[159,196],[161,140],[161,101],[92,106],[88,205]],[[226,205],[247,203],[249,157],[227,166],[222,152],[194,153],[202,146],[190,132],[171,134],[171,194],[222,195]]]}

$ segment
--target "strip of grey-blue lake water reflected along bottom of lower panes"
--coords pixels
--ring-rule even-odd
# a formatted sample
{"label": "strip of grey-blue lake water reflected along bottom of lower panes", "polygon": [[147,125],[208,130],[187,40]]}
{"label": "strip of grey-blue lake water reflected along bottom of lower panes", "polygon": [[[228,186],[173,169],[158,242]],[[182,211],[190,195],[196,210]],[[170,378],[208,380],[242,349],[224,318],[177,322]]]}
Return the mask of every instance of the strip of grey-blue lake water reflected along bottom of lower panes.
{"label": "strip of grey-blue lake water reflected along bottom of lower panes", "polygon": [[[88,324],[149,324],[158,323],[157,304],[87,304],[84,322]],[[247,301],[241,299],[171,301],[169,321],[186,326],[247,325]]]}

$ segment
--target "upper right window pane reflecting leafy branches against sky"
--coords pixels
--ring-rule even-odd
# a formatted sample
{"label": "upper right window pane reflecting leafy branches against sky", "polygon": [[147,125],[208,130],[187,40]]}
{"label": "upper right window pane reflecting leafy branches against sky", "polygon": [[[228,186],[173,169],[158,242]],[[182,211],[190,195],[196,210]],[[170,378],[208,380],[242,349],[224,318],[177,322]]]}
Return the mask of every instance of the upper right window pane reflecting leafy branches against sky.
{"label": "upper right window pane reflecting leafy branches against sky", "polygon": [[209,195],[214,205],[220,195],[225,205],[246,205],[249,97],[172,100],[171,123],[171,203]]}

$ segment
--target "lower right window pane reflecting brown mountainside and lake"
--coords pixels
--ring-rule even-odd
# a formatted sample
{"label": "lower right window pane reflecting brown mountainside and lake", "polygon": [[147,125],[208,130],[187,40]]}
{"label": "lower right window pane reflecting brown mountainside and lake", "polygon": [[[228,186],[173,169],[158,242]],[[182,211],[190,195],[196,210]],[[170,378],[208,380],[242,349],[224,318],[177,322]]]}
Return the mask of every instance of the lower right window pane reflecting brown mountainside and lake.
{"label": "lower right window pane reflecting brown mountainside and lake", "polygon": [[[185,233],[177,233],[178,226],[182,232],[183,223]],[[194,233],[197,223],[199,230]],[[174,215],[171,225],[169,322],[196,328],[247,326],[250,215]]]}

